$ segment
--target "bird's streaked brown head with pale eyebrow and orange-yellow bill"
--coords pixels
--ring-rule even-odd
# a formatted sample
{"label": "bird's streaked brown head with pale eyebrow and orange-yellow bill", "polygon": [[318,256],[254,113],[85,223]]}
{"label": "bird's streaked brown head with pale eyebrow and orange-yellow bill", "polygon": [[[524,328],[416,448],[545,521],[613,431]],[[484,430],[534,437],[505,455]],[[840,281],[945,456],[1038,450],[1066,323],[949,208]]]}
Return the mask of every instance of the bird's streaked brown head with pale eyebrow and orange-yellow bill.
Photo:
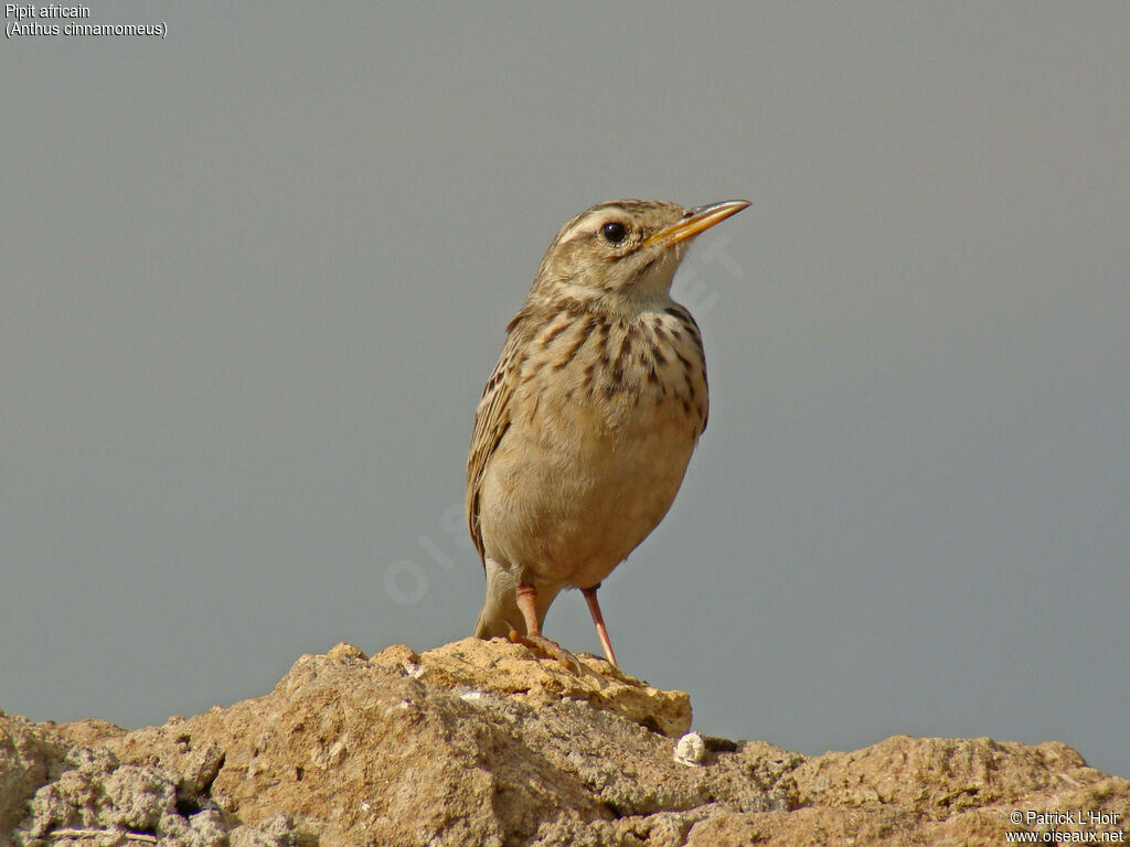
{"label": "bird's streaked brown head with pale eyebrow and orange-yellow bill", "polygon": [[666,297],[692,239],[747,206],[746,200],[693,209],[658,200],[598,203],[562,227],[541,260],[531,296]]}

